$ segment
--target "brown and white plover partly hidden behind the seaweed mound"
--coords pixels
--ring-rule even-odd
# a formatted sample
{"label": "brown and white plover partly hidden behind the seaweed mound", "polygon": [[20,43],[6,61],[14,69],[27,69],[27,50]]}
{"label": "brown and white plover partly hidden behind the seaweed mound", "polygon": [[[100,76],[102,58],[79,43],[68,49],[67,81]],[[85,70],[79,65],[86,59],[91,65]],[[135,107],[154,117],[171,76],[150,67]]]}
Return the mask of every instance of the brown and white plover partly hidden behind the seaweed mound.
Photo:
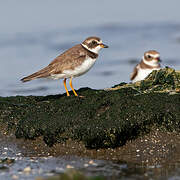
{"label": "brown and white plover partly hidden behind the seaweed mound", "polygon": [[131,81],[144,80],[153,70],[159,70],[160,66],[160,54],[155,50],[150,50],[144,53],[142,60],[137,64],[131,74]]}

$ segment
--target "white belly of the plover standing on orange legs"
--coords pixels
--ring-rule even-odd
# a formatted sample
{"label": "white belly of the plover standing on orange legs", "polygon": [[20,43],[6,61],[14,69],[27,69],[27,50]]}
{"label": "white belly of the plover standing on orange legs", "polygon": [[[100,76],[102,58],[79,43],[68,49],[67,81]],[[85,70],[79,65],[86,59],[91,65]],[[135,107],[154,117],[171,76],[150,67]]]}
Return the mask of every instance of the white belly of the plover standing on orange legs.
{"label": "white belly of the plover standing on orange legs", "polygon": [[87,58],[80,66],[73,70],[64,70],[61,74],[51,75],[53,79],[71,78],[81,76],[91,69],[96,62],[96,59]]}

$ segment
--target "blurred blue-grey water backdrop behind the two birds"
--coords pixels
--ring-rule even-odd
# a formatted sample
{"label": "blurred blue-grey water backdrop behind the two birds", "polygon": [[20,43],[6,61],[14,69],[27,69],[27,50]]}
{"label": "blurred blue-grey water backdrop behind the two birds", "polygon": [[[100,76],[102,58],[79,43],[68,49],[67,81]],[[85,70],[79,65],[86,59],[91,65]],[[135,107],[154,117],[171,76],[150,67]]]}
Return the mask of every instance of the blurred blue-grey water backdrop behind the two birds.
{"label": "blurred blue-grey water backdrop behind the two birds", "polygon": [[92,35],[109,49],[74,79],[75,89],[129,82],[135,64],[150,49],[160,52],[163,66],[180,69],[179,7],[179,0],[1,1],[0,96],[65,92],[62,80],[23,84],[20,79]]}

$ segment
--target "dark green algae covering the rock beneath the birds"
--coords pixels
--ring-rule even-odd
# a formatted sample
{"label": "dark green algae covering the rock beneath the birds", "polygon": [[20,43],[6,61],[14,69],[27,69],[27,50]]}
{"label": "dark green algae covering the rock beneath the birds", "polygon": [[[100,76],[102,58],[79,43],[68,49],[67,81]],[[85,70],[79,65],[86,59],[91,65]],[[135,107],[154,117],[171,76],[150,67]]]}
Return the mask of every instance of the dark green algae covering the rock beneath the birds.
{"label": "dark green algae covering the rock beneath the birds", "polygon": [[180,73],[153,71],[146,80],[108,90],[80,89],[80,97],[0,98],[0,124],[17,138],[42,136],[52,146],[68,139],[88,148],[124,145],[149,133],[180,130]]}

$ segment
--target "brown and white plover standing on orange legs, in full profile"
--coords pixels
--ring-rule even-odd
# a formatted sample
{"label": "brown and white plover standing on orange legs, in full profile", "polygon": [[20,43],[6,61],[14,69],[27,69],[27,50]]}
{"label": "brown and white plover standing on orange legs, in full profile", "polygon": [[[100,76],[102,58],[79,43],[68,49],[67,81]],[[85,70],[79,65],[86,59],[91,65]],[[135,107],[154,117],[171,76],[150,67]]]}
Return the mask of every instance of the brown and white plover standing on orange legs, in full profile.
{"label": "brown and white plover standing on orange legs, in full profile", "polygon": [[48,66],[21,79],[22,82],[37,78],[64,79],[67,96],[69,92],[66,79],[70,79],[70,87],[75,96],[78,96],[72,86],[72,78],[78,77],[91,69],[98,58],[101,48],[108,48],[99,37],[88,37],[81,44],[77,44],[56,57]]}

